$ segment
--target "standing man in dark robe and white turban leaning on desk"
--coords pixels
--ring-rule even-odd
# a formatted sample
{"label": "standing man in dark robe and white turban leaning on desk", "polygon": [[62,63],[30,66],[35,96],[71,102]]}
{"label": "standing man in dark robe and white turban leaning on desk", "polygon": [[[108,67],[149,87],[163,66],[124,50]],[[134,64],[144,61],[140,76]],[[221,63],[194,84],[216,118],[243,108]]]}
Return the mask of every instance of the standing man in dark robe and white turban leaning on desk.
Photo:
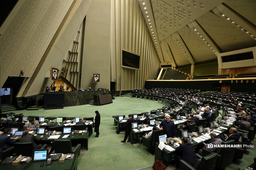
{"label": "standing man in dark robe and white turban leaning on desk", "polygon": [[170,120],[170,115],[165,115],[165,120],[162,120],[161,124],[159,125],[159,130],[164,130],[164,134],[168,137],[175,137],[176,136],[176,128],[174,122]]}

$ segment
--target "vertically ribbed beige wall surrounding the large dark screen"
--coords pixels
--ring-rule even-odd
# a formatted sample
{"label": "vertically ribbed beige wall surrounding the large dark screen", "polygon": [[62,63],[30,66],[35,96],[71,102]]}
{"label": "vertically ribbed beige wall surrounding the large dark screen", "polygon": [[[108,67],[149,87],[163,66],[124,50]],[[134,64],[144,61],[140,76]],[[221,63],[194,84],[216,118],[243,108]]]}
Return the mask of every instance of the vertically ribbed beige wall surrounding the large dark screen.
{"label": "vertically ribbed beige wall surrounding the large dark screen", "polygon": [[[140,70],[121,67],[122,50],[140,55]],[[111,0],[111,81],[116,90],[143,89],[157,78],[159,58],[137,0]],[[119,81],[121,76],[121,82]]]}

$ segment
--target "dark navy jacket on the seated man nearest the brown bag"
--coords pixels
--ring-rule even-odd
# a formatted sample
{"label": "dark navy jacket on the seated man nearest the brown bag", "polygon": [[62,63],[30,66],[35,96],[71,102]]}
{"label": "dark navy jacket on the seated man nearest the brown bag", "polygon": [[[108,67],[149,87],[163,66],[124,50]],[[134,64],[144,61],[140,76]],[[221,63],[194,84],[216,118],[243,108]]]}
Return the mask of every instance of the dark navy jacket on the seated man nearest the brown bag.
{"label": "dark navy jacket on the seated man nearest the brown bag", "polygon": [[180,146],[176,148],[176,152],[182,153],[182,159],[191,166],[196,165],[197,157],[194,153],[192,143],[181,143]]}

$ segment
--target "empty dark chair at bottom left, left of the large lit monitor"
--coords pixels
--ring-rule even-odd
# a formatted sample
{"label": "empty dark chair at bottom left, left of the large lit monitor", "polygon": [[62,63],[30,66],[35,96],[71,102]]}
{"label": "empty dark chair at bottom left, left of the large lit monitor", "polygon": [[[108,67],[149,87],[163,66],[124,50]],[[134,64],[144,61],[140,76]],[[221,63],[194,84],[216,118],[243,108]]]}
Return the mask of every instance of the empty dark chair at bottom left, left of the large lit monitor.
{"label": "empty dark chair at bottom left, left of the large lit monitor", "polygon": [[[42,145],[39,149],[46,149],[47,145]],[[22,155],[27,157],[32,157],[34,150],[34,145],[32,142],[16,142],[14,143],[15,155]]]}

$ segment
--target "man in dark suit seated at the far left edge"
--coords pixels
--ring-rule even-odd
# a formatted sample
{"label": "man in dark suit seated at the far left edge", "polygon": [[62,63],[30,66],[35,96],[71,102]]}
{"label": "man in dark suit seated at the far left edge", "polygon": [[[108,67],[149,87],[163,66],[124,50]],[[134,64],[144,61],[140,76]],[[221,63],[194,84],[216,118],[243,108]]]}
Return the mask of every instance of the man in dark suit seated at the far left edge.
{"label": "man in dark suit seated at the far left edge", "polygon": [[11,131],[10,128],[6,128],[4,130],[4,134],[0,135],[0,147],[2,151],[10,148],[11,145],[13,145],[18,139],[18,137],[15,137],[15,139],[11,141],[11,137],[8,136],[10,134],[10,131]]}

